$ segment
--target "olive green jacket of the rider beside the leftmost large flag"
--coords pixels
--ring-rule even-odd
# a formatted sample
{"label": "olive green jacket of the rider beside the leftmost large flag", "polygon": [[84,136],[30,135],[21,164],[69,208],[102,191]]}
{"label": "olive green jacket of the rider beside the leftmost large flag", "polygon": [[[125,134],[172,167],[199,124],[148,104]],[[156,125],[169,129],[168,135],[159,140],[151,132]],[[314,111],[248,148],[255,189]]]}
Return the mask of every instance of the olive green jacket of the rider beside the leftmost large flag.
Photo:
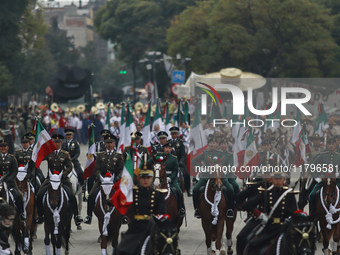
{"label": "olive green jacket of the rider beside the leftmost large flag", "polygon": [[[68,178],[69,173],[72,171],[72,161],[70,154],[67,151],[60,150],[58,155],[55,154],[55,151],[47,155],[44,159],[47,160],[48,171],[53,174],[53,171],[56,170],[59,173],[63,172],[62,178]],[[47,175],[49,177],[49,175]]]}

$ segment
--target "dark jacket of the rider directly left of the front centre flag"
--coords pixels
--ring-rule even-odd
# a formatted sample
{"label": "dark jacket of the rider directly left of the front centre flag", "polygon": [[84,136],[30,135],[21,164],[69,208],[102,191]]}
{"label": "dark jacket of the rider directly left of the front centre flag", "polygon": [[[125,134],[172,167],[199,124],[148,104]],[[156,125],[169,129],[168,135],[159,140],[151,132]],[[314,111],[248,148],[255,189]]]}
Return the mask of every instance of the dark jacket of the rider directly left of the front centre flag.
{"label": "dark jacket of the rider directly left of the front centre flag", "polygon": [[115,177],[120,177],[124,167],[122,154],[112,151],[111,155],[107,151],[97,153],[96,164],[94,165],[94,173],[97,180],[100,180],[99,175],[104,176],[107,172],[114,174]]}

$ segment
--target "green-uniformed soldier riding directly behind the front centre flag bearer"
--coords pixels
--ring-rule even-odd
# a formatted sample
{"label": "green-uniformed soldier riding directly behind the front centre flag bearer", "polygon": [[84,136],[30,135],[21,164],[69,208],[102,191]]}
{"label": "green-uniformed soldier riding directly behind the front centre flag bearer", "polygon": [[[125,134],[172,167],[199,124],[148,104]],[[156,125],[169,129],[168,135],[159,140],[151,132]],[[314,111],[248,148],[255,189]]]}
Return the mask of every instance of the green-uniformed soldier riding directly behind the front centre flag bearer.
{"label": "green-uniformed soldier riding directly behind the front centre flag bearer", "polygon": [[[164,132],[165,133],[165,132]],[[179,170],[178,166],[178,160],[177,157],[171,154],[172,151],[172,144],[171,142],[167,141],[163,145],[163,152],[157,153],[156,157],[165,157],[167,156],[167,159],[165,161],[165,171],[168,179],[168,183],[171,187],[175,188],[177,193],[177,205],[179,208],[179,214],[181,216],[185,215],[185,205],[184,205],[184,199],[183,199],[183,193],[181,188],[178,185],[178,179],[177,174]],[[153,159],[149,159],[150,162],[153,162]]]}

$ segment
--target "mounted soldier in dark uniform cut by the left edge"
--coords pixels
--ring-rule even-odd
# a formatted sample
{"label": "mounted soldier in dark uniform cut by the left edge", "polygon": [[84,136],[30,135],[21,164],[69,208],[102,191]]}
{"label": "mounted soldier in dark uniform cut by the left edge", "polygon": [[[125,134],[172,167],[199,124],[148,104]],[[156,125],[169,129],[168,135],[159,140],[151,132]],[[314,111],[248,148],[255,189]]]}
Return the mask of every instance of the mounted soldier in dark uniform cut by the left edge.
{"label": "mounted soldier in dark uniform cut by the left edge", "polygon": [[24,203],[22,200],[21,192],[17,186],[15,178],[18,173],[18,162],[14,155],[8,153],[9,146],[6,140],[0,140],[0,175],[2,176],[1,181],[5,182],[8,189],[12,189],[12,194],[14,195],[15,203],[19,210],[20,220],[26,221],[27,217],[24,214]]}

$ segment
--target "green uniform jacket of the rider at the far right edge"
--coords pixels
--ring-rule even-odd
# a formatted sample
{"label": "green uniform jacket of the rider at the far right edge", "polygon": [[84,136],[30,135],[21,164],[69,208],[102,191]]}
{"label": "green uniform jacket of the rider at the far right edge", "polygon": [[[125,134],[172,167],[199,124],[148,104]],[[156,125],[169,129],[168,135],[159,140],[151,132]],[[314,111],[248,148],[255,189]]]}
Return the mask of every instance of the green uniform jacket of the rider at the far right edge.
{"label": "green uniform jacket of the rider at the far right edge", "polygon": [[326,149],[314,157],[307,171],[310,171],[311,176],[314,178],[325,178],[328,177],[326,175],[326,169],[331,172],[331,169],[329,169],[330,165],[332,165],[333,173],[335,174],[340,165],[340,153],[335,151],[331,154],[329,150]]}

